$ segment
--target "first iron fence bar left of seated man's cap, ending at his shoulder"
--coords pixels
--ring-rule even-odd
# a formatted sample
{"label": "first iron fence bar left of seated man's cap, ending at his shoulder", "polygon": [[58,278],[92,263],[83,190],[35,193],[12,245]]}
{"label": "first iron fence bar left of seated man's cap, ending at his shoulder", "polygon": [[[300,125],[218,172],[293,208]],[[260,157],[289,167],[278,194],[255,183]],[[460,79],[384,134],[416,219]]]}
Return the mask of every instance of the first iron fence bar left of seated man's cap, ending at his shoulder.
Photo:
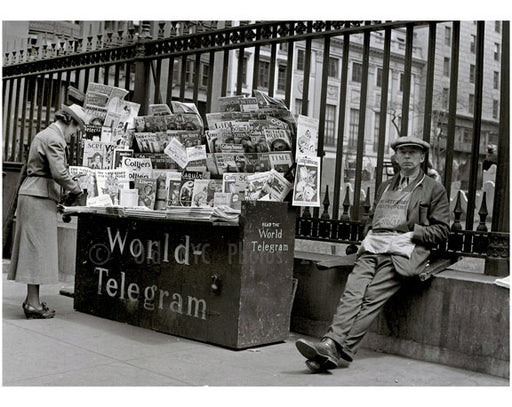
{"label": "first iron fence bar left of seated man's cap, ending at his shoulder", "polygon": [[380,94],[379,113],[379,143],[377,147],[377,174],[375,176],[374,199],[377,197],[377,189],[382,183],[382,168],[384,163],[384,147],[386,143],[386,127],[388,118],[388,93],[389,93],[389,65],[391,60],[391,28],[384,31],[384,57],[382,61],[382,88]]}

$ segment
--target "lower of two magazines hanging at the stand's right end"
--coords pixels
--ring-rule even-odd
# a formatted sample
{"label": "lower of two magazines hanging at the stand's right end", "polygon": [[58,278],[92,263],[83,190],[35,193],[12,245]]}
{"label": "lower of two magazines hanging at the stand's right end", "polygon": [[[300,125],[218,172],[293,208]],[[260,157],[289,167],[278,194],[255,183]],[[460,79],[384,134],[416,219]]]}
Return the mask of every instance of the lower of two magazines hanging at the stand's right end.
{"label": "lower of two magazines hanging at the stand's right end", "polygon": [[293,205],[320,206],[320,157],[298,157]]}

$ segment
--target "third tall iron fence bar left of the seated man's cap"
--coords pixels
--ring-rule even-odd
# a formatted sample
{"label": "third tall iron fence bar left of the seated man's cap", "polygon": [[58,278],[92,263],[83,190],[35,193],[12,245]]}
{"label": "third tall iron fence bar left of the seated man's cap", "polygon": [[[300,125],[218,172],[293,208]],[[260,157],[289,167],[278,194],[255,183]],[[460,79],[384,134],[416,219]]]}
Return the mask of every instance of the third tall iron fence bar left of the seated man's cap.
{"label": "third tall iron fence bar left of the seated man's cap", "polygon": [[338,219],[341,193],[341,165],[343,163],[343,141],[345,137],[345,111],[347,106],[348,59],[350,35],[343,35],[343,61],[341,64],[340,101],[338,111],[338,140],[336,142],[336,163],[334,169],[334,199],[332,218]]}

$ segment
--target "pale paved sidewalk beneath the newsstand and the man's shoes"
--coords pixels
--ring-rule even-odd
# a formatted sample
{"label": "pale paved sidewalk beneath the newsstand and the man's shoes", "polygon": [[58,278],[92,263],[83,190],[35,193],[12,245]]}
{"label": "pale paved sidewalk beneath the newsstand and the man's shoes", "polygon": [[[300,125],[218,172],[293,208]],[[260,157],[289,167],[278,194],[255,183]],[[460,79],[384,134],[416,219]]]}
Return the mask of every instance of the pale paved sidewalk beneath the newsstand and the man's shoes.
{"label": "pale paved sidewalk beneath the newsstand and the man's shoes", "polygon": [[[4,386],[509,386],[503,378],[362,349],[348,369],[312,374],[291,333],[233,351],[73,310],[62,284],[42,286],[57,310],[26,320],[25,286],[3,280]],[[35,363],[34,363],[35,361]]]}

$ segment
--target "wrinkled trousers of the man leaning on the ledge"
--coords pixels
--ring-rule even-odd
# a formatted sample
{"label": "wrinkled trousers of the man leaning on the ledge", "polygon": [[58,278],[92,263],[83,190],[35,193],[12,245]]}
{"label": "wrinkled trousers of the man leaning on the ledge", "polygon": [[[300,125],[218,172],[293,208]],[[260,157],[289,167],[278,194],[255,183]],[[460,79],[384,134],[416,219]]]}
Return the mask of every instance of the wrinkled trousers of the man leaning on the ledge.
{"label": "wrinkled trousers of the man leaning on the ledge", "polygon": [[348,276],[324,338],[331,338],[353,357],[386,301],[399,290],[401,281],[390,255],[362,254]]}

